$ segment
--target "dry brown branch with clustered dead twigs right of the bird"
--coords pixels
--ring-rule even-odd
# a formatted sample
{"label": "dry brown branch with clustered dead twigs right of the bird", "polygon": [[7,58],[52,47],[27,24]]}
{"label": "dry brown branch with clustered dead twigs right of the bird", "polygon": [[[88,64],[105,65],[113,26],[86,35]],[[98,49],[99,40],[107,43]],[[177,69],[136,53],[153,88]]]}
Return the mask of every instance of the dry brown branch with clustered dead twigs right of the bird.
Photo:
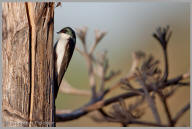
{"label": "dry brown branch with clustered dead twigs right of the bird", "polygon": [[[190,104],[184,106],[175,117],[171,116],[171,111],[167,104],[167,98],[182,86],[189,86],[189,82],[185,80],[190,77],[189,73],[178,75],[175,78],[169,78],[167,44],[172,32],[169,27],[158,28],[153,34],[154,38],[160,43],[163,48],[165,71],[162,73],[159,68],[160,61],[155,59],[153,55],[146,55],[142,51],[137,51],[132,54],[132,66],[126,76],[121,77],[116,83],[109,88],[106,88],[106,82],[113,80],[115,76],[120,75],[120,71],[109,71],[109,60],[107,51],[95,54],[94,51],[100,41],[105,37],[106,32],[99,30],[95,31],[95,40],[90,49],[87,47],[86,35],[87,27],[77,29],[77,36],[82,42],[83,50],[76,50],[85,58],[88,68],[89,85],[91,88],[91,100],[84,106],[74,111],[62,113],[57,112],[56,121],[70,121],[78,119],[90,112],[96,111],[97,115],[91,118],[97,122],[117,122],[122,126],[130,124],[138,124],[144,126],[175,126],[179,118],[189,110]],[[100,83],[96,84],[96,76]],[[140,88],[135,88],[131,81],[138,82]],[[66,84],[66,86],[69,84]],[[169,87],[169,89],[167,89]],[[120,93],[117,96],[105,98],[111,91],[123,88],[126,92]],[[167,124],[161,123],[160,112],[156,107],[155,94],[159,95],[162,105],[165,109],[165,114],[168,118]],[[140,97],[135,103],[127,104],[125,99],[132,97]],[[147,100],[147,101],[145,101]],[[140,118],[144,115],[145,110],[141,106],[148,103],[156,122],[142,121]],[[104,108],[111,105],[109,111]],[[98,113],[99,112],[99,113]]]}

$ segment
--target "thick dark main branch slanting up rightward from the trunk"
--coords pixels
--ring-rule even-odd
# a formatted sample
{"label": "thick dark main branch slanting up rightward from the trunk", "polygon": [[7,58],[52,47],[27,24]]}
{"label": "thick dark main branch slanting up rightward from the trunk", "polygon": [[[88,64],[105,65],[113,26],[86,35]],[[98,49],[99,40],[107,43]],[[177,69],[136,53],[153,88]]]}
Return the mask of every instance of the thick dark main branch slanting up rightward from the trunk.
{"label": "thick dark main branch slanting up rightward from the trunk", "polygon": [[[189,77],[189,74],[187,73],[187,74],[183,74],[178,77],[172,78],[170,80],[167,80],[167,82],[163,82],[163,83],[157,85],[157,89],[163,89],[163,88],[175,85],[182,79],[186,79],[188,77]],[[144,92],[142,88],[138,89],[138,91]],[[151,91],[153,91],[153,87],[148,87],[148,92],[151,92]],[[88,114],[89,112],[98,110],[104,106],[118,102],[120,98],[127,99],[127,98],[135,97],[138,95],[139,94],[137,94],[137,93],[128,92],[128,93],[123,93],[123,94],[117,95],[115,97],[111,97],[106,100],[102,100],[103,97],[99,97],[99,98],[97,98],[96,101],[89,102],[88,104],[84,105],[83,107],[81,107],[71,113],[56,114],[56,122],[75,120],[77,118],[80,118],[80,117]]]}

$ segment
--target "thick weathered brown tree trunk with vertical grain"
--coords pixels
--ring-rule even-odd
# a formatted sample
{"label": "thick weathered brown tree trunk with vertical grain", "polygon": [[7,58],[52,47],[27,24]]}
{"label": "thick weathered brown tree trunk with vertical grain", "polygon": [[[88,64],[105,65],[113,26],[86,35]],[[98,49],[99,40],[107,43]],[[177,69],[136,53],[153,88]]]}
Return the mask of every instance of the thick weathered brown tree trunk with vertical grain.
{"label": "thick weathered brown tree trunk with vertical grain", "polygon": [[55,126],[54,3],[2,3],[3,126]]}

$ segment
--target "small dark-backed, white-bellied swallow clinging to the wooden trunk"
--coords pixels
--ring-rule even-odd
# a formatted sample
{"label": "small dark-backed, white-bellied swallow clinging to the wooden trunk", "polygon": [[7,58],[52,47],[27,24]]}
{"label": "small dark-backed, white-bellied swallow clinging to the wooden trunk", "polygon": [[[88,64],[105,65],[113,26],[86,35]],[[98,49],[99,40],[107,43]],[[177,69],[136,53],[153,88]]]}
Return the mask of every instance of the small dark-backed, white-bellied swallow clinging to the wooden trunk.
{"label": "small dark-backed, white-bellied swallow clinging to the wooden trunk", "polygon": [[54,96],[57,98],[61,81],[68,68],[76,45],[76,34],[71,27],[65,27],[59,32],[59,39],[54,45]]}

